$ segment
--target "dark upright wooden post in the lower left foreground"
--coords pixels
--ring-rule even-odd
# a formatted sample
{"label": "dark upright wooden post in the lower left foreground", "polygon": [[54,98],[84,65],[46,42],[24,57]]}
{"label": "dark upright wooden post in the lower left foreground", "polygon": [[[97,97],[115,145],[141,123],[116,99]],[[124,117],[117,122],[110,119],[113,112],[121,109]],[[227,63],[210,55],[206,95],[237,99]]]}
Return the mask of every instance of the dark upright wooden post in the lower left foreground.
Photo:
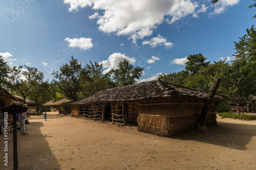
{"label": "dark upright wooden post in the lower left foreground", "polygon": [[13,126],[13,169],[18,169],[18,154],[17,154],[17,117],[12,115]]}

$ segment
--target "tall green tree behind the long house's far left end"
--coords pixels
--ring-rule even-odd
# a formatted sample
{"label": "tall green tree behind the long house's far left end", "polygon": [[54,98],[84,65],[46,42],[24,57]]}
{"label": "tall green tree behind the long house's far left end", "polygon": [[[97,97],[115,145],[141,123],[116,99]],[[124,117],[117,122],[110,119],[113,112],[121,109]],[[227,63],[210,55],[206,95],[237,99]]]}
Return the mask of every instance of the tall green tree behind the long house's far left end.
{"label": "tall green tree behind the long house's far left end", "polygon": [[72,100],[82,97],[82,82],[90,79],[88,69],[73,56],[69,64],[62,65],[60,72],[53,71],[52,75],[54,76],[52,81],[54,91],[63,93]]}

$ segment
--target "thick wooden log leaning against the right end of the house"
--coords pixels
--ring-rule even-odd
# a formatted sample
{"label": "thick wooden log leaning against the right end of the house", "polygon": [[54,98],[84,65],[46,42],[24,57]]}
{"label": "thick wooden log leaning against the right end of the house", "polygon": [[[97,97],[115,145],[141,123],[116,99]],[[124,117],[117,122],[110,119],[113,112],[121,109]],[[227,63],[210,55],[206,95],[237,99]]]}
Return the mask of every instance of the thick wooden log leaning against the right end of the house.
{"label": "thick wooden log leaning against the right end of the house", "polygon": [[210,91],[207,95],[206,101],[204,103],[203,109],[202,109],[200,117],[198,119],[198,123],[200,123],[201,126],[203,126],[203,124],[204,124],[204,120],[207,115],[211,100],[212,100],[212,98],[214,98],[214,95],[215,95],[220,83],[221,83],[221,79],[216,78],[216,79],[214,79],[214,82],[212,83],[212,85],[210,87]]}

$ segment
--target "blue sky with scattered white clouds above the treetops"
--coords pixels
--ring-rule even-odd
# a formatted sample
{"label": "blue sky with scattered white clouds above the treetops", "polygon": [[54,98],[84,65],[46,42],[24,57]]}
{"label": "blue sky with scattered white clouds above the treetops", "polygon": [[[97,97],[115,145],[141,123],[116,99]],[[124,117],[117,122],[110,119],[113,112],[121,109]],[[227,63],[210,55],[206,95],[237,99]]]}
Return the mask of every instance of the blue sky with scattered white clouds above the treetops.
{"label": "blue sky with scattered white clouds above the treetops", "polygon": [[190,54],[208,61],[234,54],[256,21],[251,0],[3,0],[0,55],[9,66],[28,65],[45,73],[70,57],[103,63],[104,72],[126,59],[144,67],[142,81],[184,69]]}

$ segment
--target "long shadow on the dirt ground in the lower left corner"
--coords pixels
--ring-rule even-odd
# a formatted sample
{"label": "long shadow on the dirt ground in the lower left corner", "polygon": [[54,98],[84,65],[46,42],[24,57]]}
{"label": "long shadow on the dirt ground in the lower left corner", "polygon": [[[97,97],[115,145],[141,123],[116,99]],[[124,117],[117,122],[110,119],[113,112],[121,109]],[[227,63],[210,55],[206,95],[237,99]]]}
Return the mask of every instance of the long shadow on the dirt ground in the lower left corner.
{"label": "long shadow on the dirt ground in the lower left corner", "polygon": [[[18,169],[60,169],[58,161],[54,157],[48,142],[40,132],[40,127],[44,126],[41,122],[33,122],[26,127],[29,133],[26,136],[20,135],[17,131],[17,152]],[[8,127],[10,128],[10,126]],[[0,169],[13,169],[13,141],[12,133],[8,134],[8,166],[5,166],[3,160],[0,163]],[[4,136],[0,136],[0,157],[4,156]]]}

